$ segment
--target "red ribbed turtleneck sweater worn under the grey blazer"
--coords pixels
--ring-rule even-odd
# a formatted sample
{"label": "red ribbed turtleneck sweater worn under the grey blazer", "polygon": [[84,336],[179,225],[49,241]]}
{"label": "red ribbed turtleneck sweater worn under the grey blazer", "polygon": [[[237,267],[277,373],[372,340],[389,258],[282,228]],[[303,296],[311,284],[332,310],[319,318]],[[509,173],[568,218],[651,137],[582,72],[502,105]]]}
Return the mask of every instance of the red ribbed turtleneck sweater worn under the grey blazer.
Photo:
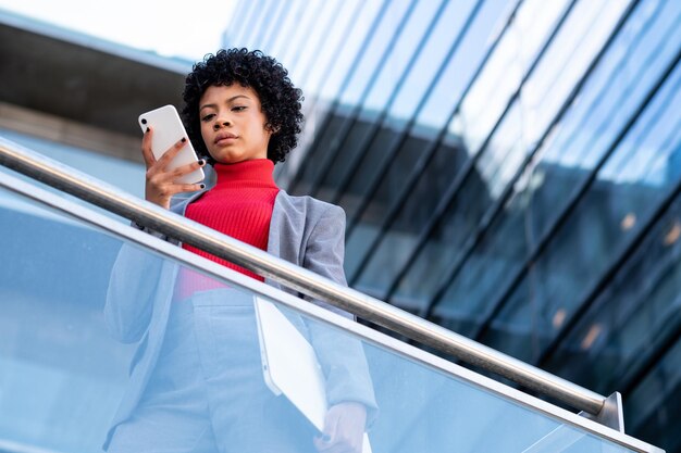
{"label": "red ribbed turtleneck sweater worn under the grey blazer", "polygon": [[[272,210],[278,193],[278,187],[272,177],[274,163],[269,159],[256,159],[231,165],[218,163],[214,169],[218,175],[215,187],[190,203],[185,216],[261,250],[267,250]],[[183,248],[260,281],[264,280],[244,267],[195,247],[184,244]],[[183,267],[177,280],[175,299],[184,300],[196,291],[222,287],[224,285]]]}

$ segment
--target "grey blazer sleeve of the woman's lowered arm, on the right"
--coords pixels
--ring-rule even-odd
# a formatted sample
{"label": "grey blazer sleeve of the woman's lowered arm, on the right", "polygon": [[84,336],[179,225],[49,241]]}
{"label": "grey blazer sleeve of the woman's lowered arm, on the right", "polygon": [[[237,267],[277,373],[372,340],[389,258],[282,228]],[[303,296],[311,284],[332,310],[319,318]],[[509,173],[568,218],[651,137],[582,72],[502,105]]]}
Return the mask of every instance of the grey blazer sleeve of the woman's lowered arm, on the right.
{"label": "grey blazer sleeve of the woman's lowered arm, on the right", "polygon": [[[319,218],[308,239],[304,267],[346,286],[343,260],[345,254],[345,212],[331,205]],[[325,302],[307,298],[342,316],[354,316]],[[369,365],[361,341],[348,334],[339,332],[327,325],[308,323],[310,340],[326,377],[326,397],[330,405],[344,401],[362,403],[367,412],[368,425],[377,415],[377,405]]]}

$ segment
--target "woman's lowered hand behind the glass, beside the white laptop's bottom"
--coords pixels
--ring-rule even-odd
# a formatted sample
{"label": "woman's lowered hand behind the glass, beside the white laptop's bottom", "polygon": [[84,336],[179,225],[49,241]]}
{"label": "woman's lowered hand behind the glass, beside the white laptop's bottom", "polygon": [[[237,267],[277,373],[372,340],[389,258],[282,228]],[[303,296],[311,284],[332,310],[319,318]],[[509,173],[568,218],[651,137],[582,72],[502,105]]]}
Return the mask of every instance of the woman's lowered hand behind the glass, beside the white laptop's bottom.
{"label": "woman's lowered hand behind the glass, beside the white laptop's bottom", "polygon": [[338,403],[329,408],[324,432],[314,439],[323,453],[361,453],[367,424],[367,408],[361,403]]}

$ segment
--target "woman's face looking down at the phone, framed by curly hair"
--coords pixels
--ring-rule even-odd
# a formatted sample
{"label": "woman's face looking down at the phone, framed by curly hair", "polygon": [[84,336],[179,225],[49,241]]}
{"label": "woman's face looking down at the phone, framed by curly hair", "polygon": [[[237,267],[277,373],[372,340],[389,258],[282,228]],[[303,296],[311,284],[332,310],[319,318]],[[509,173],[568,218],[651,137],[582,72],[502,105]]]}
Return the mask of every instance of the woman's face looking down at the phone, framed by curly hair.
{"label": "woman's face looking down at the phone, framed by curly hair", "polygon": [[260,98],[239,84],[209,87],[199,101],[201,137],[218,162],[235,164],[268,158],[271,133],[265,129]]}

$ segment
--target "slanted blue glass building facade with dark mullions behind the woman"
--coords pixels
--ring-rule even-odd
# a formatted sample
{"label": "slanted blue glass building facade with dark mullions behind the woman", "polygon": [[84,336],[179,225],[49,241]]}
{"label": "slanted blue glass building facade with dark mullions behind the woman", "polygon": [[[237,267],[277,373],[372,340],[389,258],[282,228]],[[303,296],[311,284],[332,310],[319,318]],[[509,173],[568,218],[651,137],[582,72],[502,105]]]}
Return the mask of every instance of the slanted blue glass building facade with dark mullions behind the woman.
{"label": "slanted blue glass building facade with dark mullions behind the woman", "polygon": [[290,193],[349,284],[602,394],[681,452],[681,2],[242,1],[302,88]]}

